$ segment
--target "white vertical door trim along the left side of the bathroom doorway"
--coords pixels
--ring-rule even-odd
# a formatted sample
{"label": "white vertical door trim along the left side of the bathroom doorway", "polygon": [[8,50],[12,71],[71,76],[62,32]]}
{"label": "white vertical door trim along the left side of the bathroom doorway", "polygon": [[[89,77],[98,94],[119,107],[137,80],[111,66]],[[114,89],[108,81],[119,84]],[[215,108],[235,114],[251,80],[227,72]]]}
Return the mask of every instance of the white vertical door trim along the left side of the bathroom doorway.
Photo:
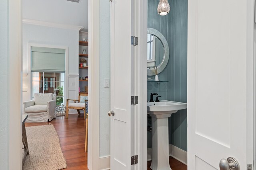
{"label": "white vertical door trim along the left side of the bathroom doorway", "polygon": [[139,133],[139,166],[136,170],[147,170],[148,161],[148,116],[147,116],[147,28],[148,28],[148,0],[141,0],[138,4],[138,37],[139,37],[139,60],[138,60],[138,83],[139,104],[138,129]]}

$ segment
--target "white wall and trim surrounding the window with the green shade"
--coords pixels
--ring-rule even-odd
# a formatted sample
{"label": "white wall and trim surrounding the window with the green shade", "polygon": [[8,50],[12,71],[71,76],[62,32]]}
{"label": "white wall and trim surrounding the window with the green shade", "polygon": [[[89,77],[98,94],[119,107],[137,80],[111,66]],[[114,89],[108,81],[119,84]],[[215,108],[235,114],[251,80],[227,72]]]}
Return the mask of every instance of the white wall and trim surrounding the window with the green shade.
{"label": "white wall and trim surrounding the window with the green shade", "polygon": [[78,98],[78,30],[23,24],[23,101],[31,100],[30,43],[68,47],[68,98]]}

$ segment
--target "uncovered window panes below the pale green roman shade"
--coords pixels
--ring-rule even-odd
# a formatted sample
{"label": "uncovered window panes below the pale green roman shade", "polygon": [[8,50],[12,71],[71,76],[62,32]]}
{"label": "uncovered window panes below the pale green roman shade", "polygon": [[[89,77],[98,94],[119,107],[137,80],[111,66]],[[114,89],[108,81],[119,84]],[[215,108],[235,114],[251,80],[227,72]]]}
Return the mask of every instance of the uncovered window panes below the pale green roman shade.
{"label": "uncovered window panes below the pale green roman shade", "polygon": [[32,98],[35,93],[54,93],[59,89],[56,105],[63,103],[64,74],[60,72],[32,72]]}

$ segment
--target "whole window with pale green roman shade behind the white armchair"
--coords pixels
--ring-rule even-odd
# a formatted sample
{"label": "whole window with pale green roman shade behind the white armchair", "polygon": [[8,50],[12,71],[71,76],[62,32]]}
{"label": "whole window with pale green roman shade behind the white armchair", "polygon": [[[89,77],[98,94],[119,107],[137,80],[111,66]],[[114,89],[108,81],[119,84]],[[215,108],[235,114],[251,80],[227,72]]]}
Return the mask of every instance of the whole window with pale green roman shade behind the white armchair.
{"label": "whole window with pale green roman shade behind the white armchair", "polygon": [[54,93],[56,105],[63,103],[66,49],[31,46],[32,98],[35,93]]}

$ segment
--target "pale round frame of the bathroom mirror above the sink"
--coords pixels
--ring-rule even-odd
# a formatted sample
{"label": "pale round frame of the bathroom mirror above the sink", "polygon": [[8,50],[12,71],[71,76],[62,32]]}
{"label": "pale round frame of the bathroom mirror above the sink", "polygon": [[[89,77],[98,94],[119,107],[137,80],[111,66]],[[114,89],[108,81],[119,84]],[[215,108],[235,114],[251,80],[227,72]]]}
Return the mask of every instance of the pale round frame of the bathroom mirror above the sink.
{"label": "pale round frame of the bathroom mirror above the sink", "polygon": [[[168,43],[164,37],[164,35],[162,35],[162,33],[160,33],[158,30],[154,29],[154,28],[148,28],[148,34],[154,35],[155,37],[157,37],[163,47],[164,47],[164,58],[162,60],[162,62],[157,66],[157,73],[159,74],[160,72],[162,72],[164,70],[164,68],[166,67],[168,61],[169,61],[169,55],[170,55],[170,51],[169,51],[169,46]],[[148,68],[148,76],[154,76],[156,75],[154,69],[149,69]]]}

